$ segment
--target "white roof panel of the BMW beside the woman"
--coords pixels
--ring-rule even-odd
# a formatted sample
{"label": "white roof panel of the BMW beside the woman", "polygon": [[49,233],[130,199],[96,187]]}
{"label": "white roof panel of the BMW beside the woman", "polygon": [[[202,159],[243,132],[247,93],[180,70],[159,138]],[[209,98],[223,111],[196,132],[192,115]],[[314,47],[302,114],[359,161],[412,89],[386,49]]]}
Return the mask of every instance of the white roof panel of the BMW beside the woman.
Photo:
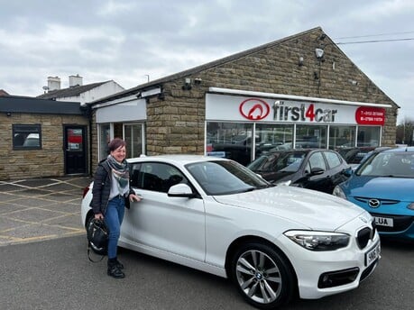
{"label": "white roof panel of the BMW beside the woman", "polygon": [[225,161],[227,159],[215,157],[215,156],[191,155],[191,154],[164,154],[164,155],[152,155],[152,156],[141,155],[140,157],[127,159],[127,161],[130,163],[141,162],[141,161],[160,161],[160,162],[175,163],[179,165],[186,165],[186,164],[193,163],[193,162],[213,161],[213,160]]}

